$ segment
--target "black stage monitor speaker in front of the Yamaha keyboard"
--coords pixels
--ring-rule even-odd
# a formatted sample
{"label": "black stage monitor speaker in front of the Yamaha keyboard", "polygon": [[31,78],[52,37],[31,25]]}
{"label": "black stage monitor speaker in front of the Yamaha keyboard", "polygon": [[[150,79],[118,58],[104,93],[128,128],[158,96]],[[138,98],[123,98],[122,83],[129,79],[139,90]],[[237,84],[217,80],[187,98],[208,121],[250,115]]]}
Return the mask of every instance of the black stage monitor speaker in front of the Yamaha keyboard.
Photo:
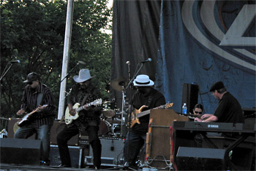
{"label": "black stage monitor speaker in front of the Yamaha keyboard", "polygon": [[178,170],[224,170],[225,149],[179,147]]}

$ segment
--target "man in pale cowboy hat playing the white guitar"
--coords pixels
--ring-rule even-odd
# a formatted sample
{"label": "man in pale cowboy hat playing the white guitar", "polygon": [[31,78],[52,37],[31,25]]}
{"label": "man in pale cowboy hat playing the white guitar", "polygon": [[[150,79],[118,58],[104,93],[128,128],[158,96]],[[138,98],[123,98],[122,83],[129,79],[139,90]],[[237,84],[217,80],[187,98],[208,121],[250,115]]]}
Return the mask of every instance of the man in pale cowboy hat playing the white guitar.
{"label": "man in pale cowboy hat playing the white guitar", "polygon": [[[99,89],[91,84],[93,77],[94,76],[91,76],[88,69],[81,69],[79,75],[73,77],[76,84],[73,85],[67,100],[70,115],[74,116],[76,114],[75,108],[73,108],[75,103],[84,106],[100,98]],[[73,120],[71,124],[67,124],[64,130],[57,135],[57,143],[61,157],[60,167],[71,167],[67,141],[73,136],[78,135],[78,133],[86,132],[89,135],[89,143],[91,144],[94,154],[94,166],[96,169],[100,168],[102,145],[98,137],[98,130],[101,110],[102,108],[100,106],[86,107],[79,111],[78,119]]]}

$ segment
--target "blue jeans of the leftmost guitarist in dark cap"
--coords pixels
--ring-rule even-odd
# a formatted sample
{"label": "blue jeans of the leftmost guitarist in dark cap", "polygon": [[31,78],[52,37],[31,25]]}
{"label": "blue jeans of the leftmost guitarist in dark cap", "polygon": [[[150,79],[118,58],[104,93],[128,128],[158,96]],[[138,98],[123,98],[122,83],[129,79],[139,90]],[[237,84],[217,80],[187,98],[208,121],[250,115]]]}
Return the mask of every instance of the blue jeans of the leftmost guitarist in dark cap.
{"label": "blue jeans of the leftmost guitarist in dark cap", "polygon": [[14,138],[26,139],[29,138],[34,133],[37,133],[37,139],[41,140],[42,143],[42,161],[49,162],[50,156],[50,128],[51,125],[42,125],[40,127],[32,127],[31,125],[25,125],[20,127],[17,132],[15,132]]}

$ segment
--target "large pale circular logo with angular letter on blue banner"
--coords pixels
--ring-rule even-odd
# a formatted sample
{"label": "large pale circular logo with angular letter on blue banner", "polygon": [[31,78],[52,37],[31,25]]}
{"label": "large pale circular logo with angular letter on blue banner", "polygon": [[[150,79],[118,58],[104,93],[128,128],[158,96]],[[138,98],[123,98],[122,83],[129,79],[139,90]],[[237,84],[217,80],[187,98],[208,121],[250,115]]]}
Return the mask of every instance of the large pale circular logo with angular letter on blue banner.
{"label": "large pale circular logo with angular letter on blue banner", "polygon": [[[230,6],[233,2],[227,1]],[[223,17],[227,12],[222,13],[222,5],[216,0],[184,1],[181,14],[185,27],[206,49],[226,61],[256,71],[256,4],[244,4],[240,11],[233,12],[235,17]]]}

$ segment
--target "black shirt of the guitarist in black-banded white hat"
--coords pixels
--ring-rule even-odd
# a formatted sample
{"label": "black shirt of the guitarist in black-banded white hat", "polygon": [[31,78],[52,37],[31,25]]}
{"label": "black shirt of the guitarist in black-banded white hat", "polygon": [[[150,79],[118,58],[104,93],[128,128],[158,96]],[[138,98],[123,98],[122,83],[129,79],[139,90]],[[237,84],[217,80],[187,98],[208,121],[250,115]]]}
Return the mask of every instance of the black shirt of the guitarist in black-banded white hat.
{"label": "black shirt of the guitarist in black-banded white hat", "polygon": [[[142,93],[137,91],[132,98],[131,104],[136,109],[140,109],[141,106],[146,105],[148,106],[148,108],[143,108],[143,111],[146,111],[151,108],[165,105],[165,96],[162,95],[161,92],[154,90],[154,88],[151,88],[148,95],[143,95]],[[131,132],[141,135],[146,134],[146,132],[148,132],[149,114],[140,117],[139,120],[140,124],[135,124],[131,128]]]}

